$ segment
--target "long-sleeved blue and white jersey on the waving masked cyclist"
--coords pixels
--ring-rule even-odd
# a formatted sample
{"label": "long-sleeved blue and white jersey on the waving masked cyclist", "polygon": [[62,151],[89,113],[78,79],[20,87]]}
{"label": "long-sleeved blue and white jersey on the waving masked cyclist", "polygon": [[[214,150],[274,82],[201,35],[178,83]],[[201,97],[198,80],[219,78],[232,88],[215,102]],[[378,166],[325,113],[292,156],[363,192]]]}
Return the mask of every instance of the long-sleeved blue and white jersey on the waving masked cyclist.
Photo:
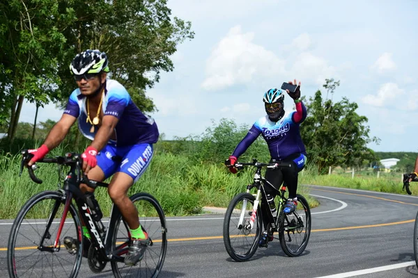
{"label": "long-sleeved blue and white jersey on the waving masked cyclist", "polygon": [[233,151],[233,156],[240,157],[260,134],[267,142],[270,156],[278,161],[292,154],[305,154],[306,149],[300,136],[300,123],[307,117],[307,108],[302,104],[302,119],[295,122],[295,111],[284,115],[278,122],[272,122],[268,115],[258,119],[249,129]]}

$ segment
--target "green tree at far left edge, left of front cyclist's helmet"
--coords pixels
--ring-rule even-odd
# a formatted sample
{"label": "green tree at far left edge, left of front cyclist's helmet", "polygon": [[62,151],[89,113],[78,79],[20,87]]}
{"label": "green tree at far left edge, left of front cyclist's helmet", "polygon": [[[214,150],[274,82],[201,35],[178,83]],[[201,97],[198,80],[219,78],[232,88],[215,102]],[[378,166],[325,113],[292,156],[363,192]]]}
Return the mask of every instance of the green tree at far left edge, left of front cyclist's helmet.
{"label": "green tree at far left edge, left of front cyclist's helmet", "polygon": [[0,121],[8,120],[13,142],[24,99],[40,106],[61,83],[56,57],[65,49],[60,29],[72,20],[71,10],[59,10],[54,0],[10,0],[0,3]]}

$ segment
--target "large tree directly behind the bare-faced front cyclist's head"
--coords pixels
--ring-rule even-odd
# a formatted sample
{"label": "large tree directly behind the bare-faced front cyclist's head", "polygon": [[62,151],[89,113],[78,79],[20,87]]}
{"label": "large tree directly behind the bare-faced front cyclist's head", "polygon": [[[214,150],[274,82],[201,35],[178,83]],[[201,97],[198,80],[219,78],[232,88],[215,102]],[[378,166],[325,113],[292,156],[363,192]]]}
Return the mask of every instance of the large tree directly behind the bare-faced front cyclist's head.
{"label": "large tree directly behind the bare-faced front cyclist's head", "polygon": [[85,49],[100,49],[109,57],[110,77],[125,85],[141,111],[155,111],[146,89],[160,80],[160,72],[173,70],[177,45],[194,38],[191,23],[171,18],[167,0],[98,0],[89,6],[74,0],[68,5],[77,20],[64,31],[72,51],[59,71],[63,102],[75,87],[68,70],[72,58]]}

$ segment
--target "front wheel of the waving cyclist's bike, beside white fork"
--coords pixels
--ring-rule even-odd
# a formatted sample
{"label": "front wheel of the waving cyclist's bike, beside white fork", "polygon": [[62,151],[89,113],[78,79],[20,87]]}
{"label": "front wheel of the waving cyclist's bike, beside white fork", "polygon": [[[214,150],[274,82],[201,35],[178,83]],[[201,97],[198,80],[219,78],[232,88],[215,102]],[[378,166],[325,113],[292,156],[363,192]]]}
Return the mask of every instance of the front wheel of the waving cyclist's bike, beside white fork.
{"label": "front wheel of the waving cyclist's bike, beside white fork", "polygon": [[[258,240],[260,240],[263,229],[263,215],[260,206],[257,209],[256,220],[251,229],[249,227],[250,212],[253,210],[254,200],[256,198],[249,193],[240,193],[236,195],[229,203],[224,217],[224,245],[226,252],[234,261],[247,261],[251,259],[258,248]],[[245,208],[244,222],[242,227],[238,227],[238,220],[243,208],[243,201],[247,200]],[[251,234],[254,231],[255,234]],[[236,233],[232,235],[232,233]]]}

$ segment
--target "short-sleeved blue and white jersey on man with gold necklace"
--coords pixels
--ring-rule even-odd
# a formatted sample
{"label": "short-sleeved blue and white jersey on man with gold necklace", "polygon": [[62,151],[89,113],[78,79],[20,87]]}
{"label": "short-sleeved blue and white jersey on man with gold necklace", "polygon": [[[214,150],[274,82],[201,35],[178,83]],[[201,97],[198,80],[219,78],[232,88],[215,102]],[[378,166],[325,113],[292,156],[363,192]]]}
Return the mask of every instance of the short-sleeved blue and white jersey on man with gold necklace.
{"label": "short-sleeved blue and white jersey on man with gold necklace", "polygon": [[[103,115],[118,118],[115,128],[116,140],[109,140],[108,143],[128,146],[157,142],[159,136],[157,124],[153,118],[147,117],[139,110],[125,87],[116,80],[107,79],[106,81],[102,111]],[[90,140],[94,139],[97,129],[93,133],[90,132],[91,124],[86,122],[86,96],[82,95],[78,88],[70,95],[64,113],[78,117],[82,134]]]}

